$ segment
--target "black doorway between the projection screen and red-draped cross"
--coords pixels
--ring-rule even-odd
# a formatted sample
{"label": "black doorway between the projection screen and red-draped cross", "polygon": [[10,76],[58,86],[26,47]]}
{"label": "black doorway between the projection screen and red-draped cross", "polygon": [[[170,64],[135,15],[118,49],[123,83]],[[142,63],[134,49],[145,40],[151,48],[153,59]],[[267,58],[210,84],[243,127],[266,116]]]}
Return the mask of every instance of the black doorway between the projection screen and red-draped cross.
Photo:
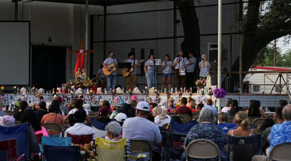
{"label": "black doorway between the projection screen and red-draped cross", "polygon": [[65,83],[65,47],[32,46],[32,86],[46,91]]}

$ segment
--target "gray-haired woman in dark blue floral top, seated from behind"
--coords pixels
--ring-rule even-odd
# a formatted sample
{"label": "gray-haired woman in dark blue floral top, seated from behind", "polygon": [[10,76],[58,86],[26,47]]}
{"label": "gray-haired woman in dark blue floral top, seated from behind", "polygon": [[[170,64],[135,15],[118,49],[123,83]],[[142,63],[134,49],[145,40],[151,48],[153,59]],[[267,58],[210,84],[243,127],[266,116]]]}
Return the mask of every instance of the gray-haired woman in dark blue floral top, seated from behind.
{"label": "gray-haired woman in dark blue floral top, seated from behind", "polygon": [[[210,108],[202,110],[198,117],[198,124],[194,125],[191,130],[188,132],[184,146],[185,149],[195,139],[207,139],[216,144],[220,150],[221,161],[227,161],[227,147],[228,140],[227,134],[215,124],[214,113]],[[182,160],[186,159],[185,153],[182,156]],[[217,161],[217,158],[213,158],[207,161]],[[188,161],[194,161],[193,158],[189,158]],[[195,159],[195,161],[200,161]],[[202,161],[202,160],[201,160]]]}

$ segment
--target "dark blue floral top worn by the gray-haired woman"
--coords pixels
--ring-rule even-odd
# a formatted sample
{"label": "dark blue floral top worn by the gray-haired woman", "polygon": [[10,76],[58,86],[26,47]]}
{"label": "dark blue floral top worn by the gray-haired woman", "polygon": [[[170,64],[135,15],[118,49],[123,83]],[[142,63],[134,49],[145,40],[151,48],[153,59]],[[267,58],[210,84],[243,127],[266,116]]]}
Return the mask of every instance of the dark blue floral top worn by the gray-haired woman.
{"label": "dark blue floral top worn by the gray-haired woman", "polygon": [[[195,139],[207,139],[216,144],[220,150],[221,161],[227,161],[228,157],[224,152],[224,146],[228,144],[227,134],[214,123],[199,123],[194,125],[188,132],[184,146],[188,146]],[[186,159],[185,153],[182,155],[182,161]],[[213,159],[193,159],[189,157],[188,161],[218,161],[218,158]]]}

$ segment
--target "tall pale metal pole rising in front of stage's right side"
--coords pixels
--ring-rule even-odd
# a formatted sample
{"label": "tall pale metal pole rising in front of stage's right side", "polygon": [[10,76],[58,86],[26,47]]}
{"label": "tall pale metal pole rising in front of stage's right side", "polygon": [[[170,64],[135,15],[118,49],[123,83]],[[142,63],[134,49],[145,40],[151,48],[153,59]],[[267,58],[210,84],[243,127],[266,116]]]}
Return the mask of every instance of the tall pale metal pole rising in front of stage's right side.
{"label": "tall pale metal pole rising in front of stage's right side", "polygon": [[[221,17],[222,17],[222,0],[218,0],[218,67],[217,67],[217,87],[221,88],[221,49],[222,49],[222,43],[221,43]],[[220,106],[220,99],[218,99],[217,102],[217,109],[218,112],[221,111],[221,106]]]}

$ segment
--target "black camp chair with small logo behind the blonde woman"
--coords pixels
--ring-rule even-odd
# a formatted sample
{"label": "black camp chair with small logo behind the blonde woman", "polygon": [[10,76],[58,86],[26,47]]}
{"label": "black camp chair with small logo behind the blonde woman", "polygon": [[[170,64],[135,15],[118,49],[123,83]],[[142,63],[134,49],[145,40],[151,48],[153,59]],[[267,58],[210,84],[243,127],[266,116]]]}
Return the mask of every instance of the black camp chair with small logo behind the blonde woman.
{"label": "black camp chair with small logo behind the blonde woman", "polygon": [[236,137],[228,135],[230,161],[251,161],[254,155],[261,154],[261,135]]}

